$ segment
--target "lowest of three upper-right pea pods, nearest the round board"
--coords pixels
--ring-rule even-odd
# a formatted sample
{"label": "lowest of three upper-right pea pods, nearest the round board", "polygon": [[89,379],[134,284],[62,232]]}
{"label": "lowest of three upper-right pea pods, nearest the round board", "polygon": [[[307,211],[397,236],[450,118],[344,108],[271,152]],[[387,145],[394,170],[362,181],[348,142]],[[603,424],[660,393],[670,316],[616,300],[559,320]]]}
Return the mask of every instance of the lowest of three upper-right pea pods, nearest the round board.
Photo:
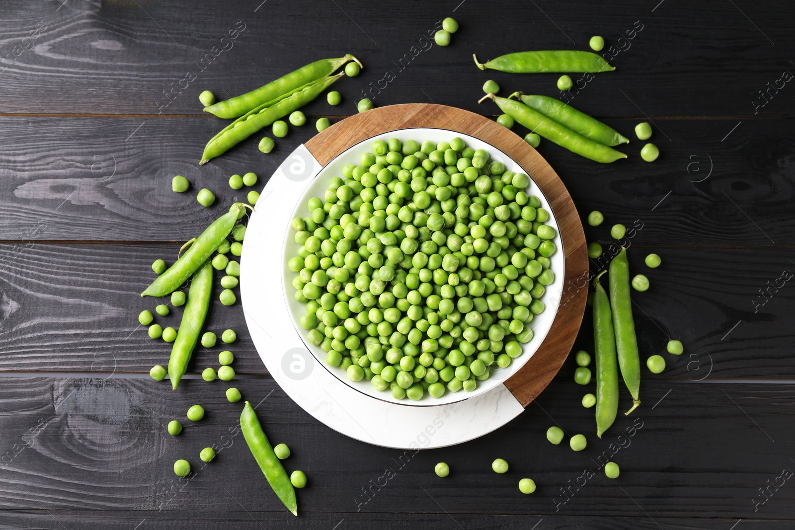
{"label": "lowest of three upper-right pea pods, nearest the round board", "polygon": [[[572,153],[577,153],[581,157],[590,158],[592,161],[602,162],[603,164],[617,161],[619,158],[626,158],[624,153],[584,137],[566,126],[562,126],[522,102],[500,98],[494,94],[483,96],[483,99],[486,98],[494,99],[494,103],[497,103],[502,112],[514,118],[515,122],[521,123],[529,130],[540,134],[549,141],[555,142]],[[480,101],[483,101],[483,99]]]}

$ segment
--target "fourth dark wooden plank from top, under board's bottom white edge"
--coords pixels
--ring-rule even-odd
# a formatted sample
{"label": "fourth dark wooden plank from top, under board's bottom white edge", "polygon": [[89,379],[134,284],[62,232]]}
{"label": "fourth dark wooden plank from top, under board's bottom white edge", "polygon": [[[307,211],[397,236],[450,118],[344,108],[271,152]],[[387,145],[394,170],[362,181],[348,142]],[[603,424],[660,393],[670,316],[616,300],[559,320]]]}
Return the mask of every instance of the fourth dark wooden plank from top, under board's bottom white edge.
{"label": "fourth dark wooden plank from top, under board's bottom white edge", "polygon": [[[167,382],[145,380],[33,381],[7,380],[0,393],[0,454],[11,452],[0,467],[2,509],[142,510],[141,519],[160,509],[254,510],[289,519],[238,434],[242,404],[223,397],[231,384],[191,381],[173,392]],[[416,454],[331,431],[270,379],[235,385],[258,404],[273,443],[291,447],[287,469],[308,474],[308,487],[298,492],[301,513],[339,513],[337,521],[357,511],[532,515],[532,524],[551,515],[615,513],[655,520],[795,516],[795,489],[780,478],[795,466],[789,459],[793,385],[651,381],[648,392],[657,404],[620,417],[599,440],[592,411],[582,408],[573,383],[553,382],[506,427]],[[629,397],[624,393],[622,399]],[[207,414],[194,424],[184,420],[184,412],[196,403]],[[173,438],[165,426],[175,418],[184,420],[184,431]],[[574,453],[565,444],[548,443],[545,431],[555,423],[587,435],[588,447]],[[428,436],[418,433],[418,444]],[[704,440],[710,440],[708,447]],[[199,451],[211,445],[218,456],[200,467]],[[491,471],[496,457],[510,462],[508,474]],[[173,475],[176,458],[192,462],[192,478],[180,482]],[[621,466],[615,481],[601,470],[607,459]],[[432,473],[441,460],[451,466],[448,478]],[[582,478],[588,470],[593,477]],[[536,493],[519,493],[522,477],[533,478]],[[770,483],[778,486],[763,496],[759,489]]]}

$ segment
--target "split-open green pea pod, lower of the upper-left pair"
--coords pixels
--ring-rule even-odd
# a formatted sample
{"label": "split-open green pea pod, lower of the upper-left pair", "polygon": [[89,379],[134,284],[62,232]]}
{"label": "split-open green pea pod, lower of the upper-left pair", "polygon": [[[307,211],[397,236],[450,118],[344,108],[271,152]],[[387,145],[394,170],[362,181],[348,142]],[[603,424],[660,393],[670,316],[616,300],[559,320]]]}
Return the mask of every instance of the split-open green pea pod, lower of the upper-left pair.
{"label": "split-open green pea pod, lower of the upper-left pair", "polygon": [[220,133],[216,134],[207,142],[202,153],[199,164],[207,164],[211,158],[218,157],[226,153],[241,141],[250,137],[252,134],[269,126],[279,118],[283,118],[293,110],[300,109],[312,99],[315,99],[320,92],[331,86],[345,72],[336,75],[329,75],[322,79],[317,79],[303,87],[297,88],[288,94],[281,95],[273,101],[262,103],[262,105],[250,110],[247,114],[236,119],[231,125],[225,127]]}

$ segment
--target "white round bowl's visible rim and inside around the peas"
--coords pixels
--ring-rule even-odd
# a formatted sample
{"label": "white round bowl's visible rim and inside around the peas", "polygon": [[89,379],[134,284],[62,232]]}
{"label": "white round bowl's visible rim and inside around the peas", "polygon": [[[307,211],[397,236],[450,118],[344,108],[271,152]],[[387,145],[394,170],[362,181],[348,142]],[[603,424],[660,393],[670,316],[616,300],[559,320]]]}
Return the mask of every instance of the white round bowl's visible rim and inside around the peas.
{"label": "white round bowl's visible rim and inside around the peas", "polygon": [[434,143],[439,143],[440,141],[450,141],[454,137],[462,138],[463,141],[466,142],[467,146],[471,147],[472,149],[487,150],[487,152],[491,154],[491,160],[502,161],[506,165],[506,169],[517,173],[525,173],[530,177],[529,187],[525,191],[528,195],[536,195],[539,199],[541,199],[541,207],[544,207],[546,211],[549,211],[549,221],[545,222],[545,224],[553,226],[557,232],[556,237],[553,239],[553,242],[557,247],[557,252],[554,253],[553,257],[550,258],[550,269],[552,269],[553,273],[555,274],[555,281],[553,284],[546,287],[545,294],[542,298],[542,301],[546,305],[545,311],[543,311],[541,315],[535,315],[530,323],[533,326],[533,339],[522,345],[524,347],[524,352],[518,358],[514,358],[513,362],[511,362],[508,368],[500,369],[496,363],[494,363],[494,365],[491,366],[491,377],[489,377],[486,381],[478,381],[477,388],[472,392],[467,393],[463,390],[460,390],[459,392],[453,393],[450,391],[445,391],[444,396],[440,398],[430,397],[426,393],[425,397],[419,401],[409,400],[408,398],[397,400],[392,397],[392,393],[389,389],[378,391],[374,389],[372,385],[370,385],[370,381],[348,380],[345,370],[339,367],[328,366],[325,361],[326,352],[321,350],[319,346],[315,346],[312,342],[306,340],[306,334],[308,331],[304,330],[299,323],[299,319],[301,318],[301,315],[306,313],[306,309],[304,308],[304,304],[301,304],[295,300],[295,288],[293,288],[292,282],[293,277],[295,277],[296,274],[290,271],[290,269],[287,267],[287,261],[289,261],[290,257],[297,256],[299,245],[295,242],[293,237],[295,230],[288,228],[284,235],[284,246],[281,253],[281,284],[282,292],[285,296],[285,302],[287,304],[290,317],[293,321],[293,326],[296,327],[298,335],[301,335],[301,339],[304,341],[307,349],[312,352],[312,355],[314,355],[320,366],[332,373],[343,385],[348,385],[351,388],[365,394],[366,396],[374,397],[378,400],[386,400],[392,403],[414,407],[434,406],[456,403],[458,401],[466,400],[494,389],[495,386],[500,385],[503,381],[506,381],[506,379],[516,373],[518,369],[521,369],[522,366],[525,365],[525,362],[527,362],[529,358],[533,356],[538,349],[538,346],[540,346],[541,342],[544,341],[549,328],[552,326],[557,308],[560,304],[560,296],[563,292],[564,279],[564,248],[562,239],[560,238],[560,229],[555,219],[555,212],[553,212],[549,207],[549,201],[541,192],[541,189],[538,188],[535,182],[533,182],[533,176],[530,175],[529,172],[526,172],[522,167],[507,157],[505,153],[502,153],[502,151],[495,148],[493,145],[479,140],[478,138],[471,137],[467,134],[444,129],[416,128],[394,130],[388,133],[378,134],[374,137],[366,139],[365,141],[361,141],[358,144],[346,149],[343,151],[343,153],[340,153],[339,156],[335,157],[323,169],[320,170],[320,173],[318,173],[314,180],[308,183],[307,188],[301,195],[301,199],[299,199],[298,203],[293,209],[293,215],[291,216],[291,219],[294,219],[298,216],[307,217],[309,215],[307,209],[308,199],[312,197],[320,197],[322,199],[324,192],[328,188],[328,183],[332,180],[332,178],[335,176],[342,178],[343,166],[345,164],[358,164],[359,156],[362,153],[370,152],[370,144],[373,141],[386,141],[389,138],[397,138],[400,141],[415,140],[422,143],[422,141],[429,140]]}

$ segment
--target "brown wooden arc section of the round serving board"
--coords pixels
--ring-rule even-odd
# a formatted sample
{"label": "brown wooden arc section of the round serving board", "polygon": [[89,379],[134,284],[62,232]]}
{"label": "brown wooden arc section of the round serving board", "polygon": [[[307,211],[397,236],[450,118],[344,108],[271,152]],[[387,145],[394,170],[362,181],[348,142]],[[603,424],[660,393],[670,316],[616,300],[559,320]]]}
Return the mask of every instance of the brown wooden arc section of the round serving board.
{"label": "brown wooden arc section of the round serving board", "polygon": [[351,145],[369,137],[413,127],[459,131],[494,145],[525,169],[546,195],[556,216],[565,256],[560,306],[537,352],[504,383],[526,407],[555,377],[580,330],[588,295],[588,253],[580,216],[560,177],[535,149],[490,119],[452,106],[408,103],[367,110],[329,127],[305,146],[325,166]]}

